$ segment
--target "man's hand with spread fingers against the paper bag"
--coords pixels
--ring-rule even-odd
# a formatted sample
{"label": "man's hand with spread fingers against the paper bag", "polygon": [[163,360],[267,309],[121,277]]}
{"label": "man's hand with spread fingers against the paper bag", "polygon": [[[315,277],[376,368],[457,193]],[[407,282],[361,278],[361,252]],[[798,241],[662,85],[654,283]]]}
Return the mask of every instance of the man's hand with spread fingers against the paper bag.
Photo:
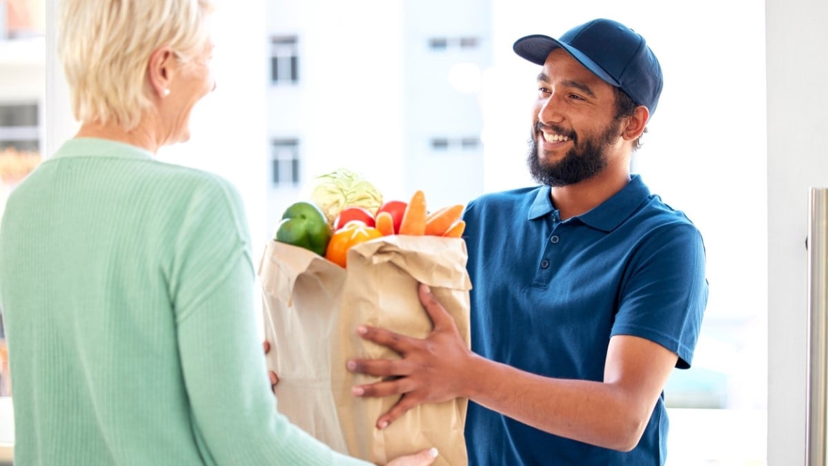
{"label": "man's hand with spread fingers against the paper bag", "polygon": [[434,326],[425,340],[382,328],[357,328],[357,333],[364,339],[389,347],[402,356],[397,360],[353,359],[347,365],[349,371],[395,377],[351,389],[354,396],[402,395],[391,410],[379,417],[379,429],[384,429],[416,405],[468,396],[464,384],[471,379],[469,363],[474,359],[474,353],[460,337],[454,318],[431,294],[431,289],[420,284],[419,295]]}

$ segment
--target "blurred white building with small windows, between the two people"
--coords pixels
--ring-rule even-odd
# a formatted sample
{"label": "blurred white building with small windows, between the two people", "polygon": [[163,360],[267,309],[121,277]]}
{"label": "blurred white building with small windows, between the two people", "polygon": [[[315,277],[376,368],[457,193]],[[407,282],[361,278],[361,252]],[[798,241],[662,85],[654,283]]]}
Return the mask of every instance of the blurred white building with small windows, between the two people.
{"label": "blurred white building with small windows, between the two people", "polygon": [[339,167],[386,199],[422,189],[442,206],[479,194],[490,15],[471,0],[267,2],[268,224]]}

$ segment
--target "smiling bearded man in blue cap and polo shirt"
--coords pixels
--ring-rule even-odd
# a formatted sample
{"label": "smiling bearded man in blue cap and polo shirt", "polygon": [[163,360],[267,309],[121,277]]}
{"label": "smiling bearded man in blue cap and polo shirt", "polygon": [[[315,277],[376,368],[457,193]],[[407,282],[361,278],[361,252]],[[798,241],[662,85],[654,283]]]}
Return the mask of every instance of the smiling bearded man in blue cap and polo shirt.
{"label": "smiling bearded man in blue cap and polo shirt", "polygon": [[541,66],[528,166],[539,186],[469,202],[471,351],[426,287],[426,340],[359,328],[397,361],[356,396],[402,395],[384,427],[423,402],[468,397],[469,464],[665,464],[663,389],[690,367],[707,303],[696,226],[630,172],[662,70],[643,37],[598,19],[526,36]]}

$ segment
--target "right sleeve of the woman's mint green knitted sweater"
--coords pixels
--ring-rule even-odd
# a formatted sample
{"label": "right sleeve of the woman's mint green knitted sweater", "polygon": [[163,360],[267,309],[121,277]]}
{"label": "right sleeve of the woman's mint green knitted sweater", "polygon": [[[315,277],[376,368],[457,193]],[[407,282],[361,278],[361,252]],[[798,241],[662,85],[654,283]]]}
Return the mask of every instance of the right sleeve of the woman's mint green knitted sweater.
{"label": "right sleeve of the woman's mint green knitted sweater", "polygon": [[207,464],[368,464],[338,454],[276,409],[257,332],[243,206],[219,180],[176,233],[170,293],[196,442]]}

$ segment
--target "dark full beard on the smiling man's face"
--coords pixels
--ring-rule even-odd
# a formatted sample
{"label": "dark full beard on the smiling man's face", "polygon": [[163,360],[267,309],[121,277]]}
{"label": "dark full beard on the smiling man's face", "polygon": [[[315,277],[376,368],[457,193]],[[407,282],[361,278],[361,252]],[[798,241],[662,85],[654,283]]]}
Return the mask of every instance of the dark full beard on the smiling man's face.
{"label": "dark full beard on the smiling man's face", "polygon": [[529,156],[527,157],[532,179],[551,187],[561,187],[582,182],[597,175],[607,166],[607,148],[619,138],[619,128],[615,123],[617,122],[613,122],[604,133],[598,136],[585,136],[583,139],[559,126],[547,124],[546,128],[556,133],[568,134],[570,141],[575,144],[575,147],[570,148],[566,156],[557,163],[541,162],[537,138],[543,137],[539,132],[544,125],[537,123],[529,139]]}

